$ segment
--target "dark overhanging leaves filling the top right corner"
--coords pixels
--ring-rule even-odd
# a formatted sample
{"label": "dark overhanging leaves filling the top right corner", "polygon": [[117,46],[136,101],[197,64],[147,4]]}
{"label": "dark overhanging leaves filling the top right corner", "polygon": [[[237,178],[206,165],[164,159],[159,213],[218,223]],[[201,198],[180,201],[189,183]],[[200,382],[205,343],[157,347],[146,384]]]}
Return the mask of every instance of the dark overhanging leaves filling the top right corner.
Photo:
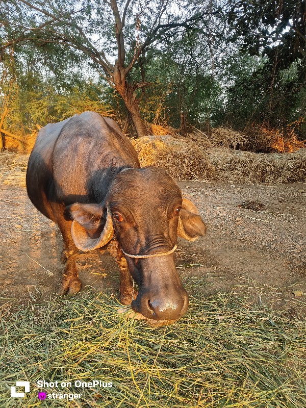
{"label": "dark overhanging leaves filling the top right corner", "polygon": [[306,57],[306,4],[302,0],[282,2],[232,0],[228,14],[231,41],[242,39],[250,55],[266,55],[276,70],[288,69]]}

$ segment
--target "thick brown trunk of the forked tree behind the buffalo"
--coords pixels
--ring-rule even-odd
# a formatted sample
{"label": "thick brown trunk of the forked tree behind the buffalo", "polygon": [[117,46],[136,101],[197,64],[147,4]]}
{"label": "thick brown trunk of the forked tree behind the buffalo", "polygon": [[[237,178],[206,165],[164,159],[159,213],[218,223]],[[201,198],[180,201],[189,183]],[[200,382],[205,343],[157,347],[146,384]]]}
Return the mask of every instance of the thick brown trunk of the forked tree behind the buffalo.
{"label": "thick brown trunk of the forked tree behind the buffalo", "polygon": [[146,130],[142,122],[138,100],[136,98],[135,87],[133,85],[127,84],[126,82],[126,72],[124,68],[119,68],[115,65],[114,69],[114,85],[116,91],[119,93],[126,109],[130,112],[133,123],[136,128],[137,136],[142,137],[146,135]]}

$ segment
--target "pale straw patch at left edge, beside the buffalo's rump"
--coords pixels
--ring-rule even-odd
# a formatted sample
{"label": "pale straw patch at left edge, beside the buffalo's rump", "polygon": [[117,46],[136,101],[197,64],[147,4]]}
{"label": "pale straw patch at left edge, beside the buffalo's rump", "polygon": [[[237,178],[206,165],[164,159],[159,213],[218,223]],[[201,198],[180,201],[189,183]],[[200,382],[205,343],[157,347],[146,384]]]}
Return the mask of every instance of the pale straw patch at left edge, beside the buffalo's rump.
{"label": "pale straw patch at left edge, beside the buffalo's rump", "polygon": [[29,155],[0,153],[0,184],[25,187]]}

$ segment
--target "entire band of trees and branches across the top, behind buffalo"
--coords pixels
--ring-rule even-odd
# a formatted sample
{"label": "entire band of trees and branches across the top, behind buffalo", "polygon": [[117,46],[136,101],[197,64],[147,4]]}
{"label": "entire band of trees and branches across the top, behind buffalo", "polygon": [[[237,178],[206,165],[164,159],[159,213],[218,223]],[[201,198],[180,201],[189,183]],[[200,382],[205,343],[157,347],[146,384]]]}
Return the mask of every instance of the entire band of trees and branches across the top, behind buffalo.
{"label": "entire band of trees and branches across the top, behind buffalo", "polygon": [[[117,110],[122,127],[131,119],[139,136],[146,133],[143,119],[176,127],[293,125],[304,132],[302,1],[2,3],[2,92],[14,83],[27,104],[45,106],[40,118],[33,107],[21,115],[28,127],[65,115],[51,105],[61,97],[75,105],[81,92]],[[5,104],[3,98],[3,110]]]}

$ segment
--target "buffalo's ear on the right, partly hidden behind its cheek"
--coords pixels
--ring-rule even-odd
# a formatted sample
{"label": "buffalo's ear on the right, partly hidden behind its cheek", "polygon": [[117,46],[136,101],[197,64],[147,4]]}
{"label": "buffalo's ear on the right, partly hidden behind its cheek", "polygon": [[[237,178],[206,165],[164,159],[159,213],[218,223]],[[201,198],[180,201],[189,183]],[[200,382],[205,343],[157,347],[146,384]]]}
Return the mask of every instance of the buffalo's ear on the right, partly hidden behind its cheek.
{"label": "buffalo's ear on the right, partly hidden behind its cheek", "polygon": [[183,198],[177,235],[188,241],[195,241],[198,237],[203,237],[205,233],[206,225],[199,216],[197,208],[191,201]]}

